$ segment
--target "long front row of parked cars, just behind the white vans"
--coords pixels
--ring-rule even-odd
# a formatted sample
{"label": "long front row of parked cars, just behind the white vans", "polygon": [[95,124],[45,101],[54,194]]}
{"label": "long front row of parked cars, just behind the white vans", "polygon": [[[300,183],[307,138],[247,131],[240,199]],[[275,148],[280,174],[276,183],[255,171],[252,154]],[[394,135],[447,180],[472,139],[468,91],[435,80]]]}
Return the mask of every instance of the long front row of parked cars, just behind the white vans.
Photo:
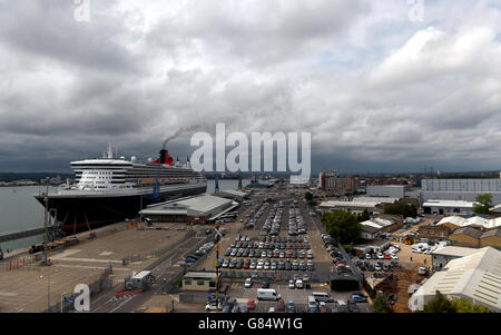
{"label": "long front row of parked cars, just behind the white vans", "polygon": [[258,269],[258,270],[302,270],[302,272],[313,272],[315,270],[315,265],[313,260],[292,260],[291,259],[237,259],[237,258],[222,258],[219,260],[220,267],[223,268],[236,268],[236,269]]}

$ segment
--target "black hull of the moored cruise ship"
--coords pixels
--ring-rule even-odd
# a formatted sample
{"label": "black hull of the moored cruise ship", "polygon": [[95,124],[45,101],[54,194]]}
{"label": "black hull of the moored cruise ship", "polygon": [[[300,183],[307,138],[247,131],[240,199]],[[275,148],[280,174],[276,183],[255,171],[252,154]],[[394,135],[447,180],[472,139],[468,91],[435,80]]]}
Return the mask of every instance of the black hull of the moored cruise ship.
{"label": "black hull of the moored cruise ship", "polygon": [[[60,225],[62,233],[65,235],[71,235],[124,221],[125,219],[136,218],[140,209],[155,203],[198,195],[206,190],[206,186],[198,186],[160,191],[160,198],[156,200],[153,198],[153,193],[144,194],[143,196],[49,195],[48,208],[51,216],[55,217],[56,221]],[[40,204],[46,206],[43,195],[35,197]]]}

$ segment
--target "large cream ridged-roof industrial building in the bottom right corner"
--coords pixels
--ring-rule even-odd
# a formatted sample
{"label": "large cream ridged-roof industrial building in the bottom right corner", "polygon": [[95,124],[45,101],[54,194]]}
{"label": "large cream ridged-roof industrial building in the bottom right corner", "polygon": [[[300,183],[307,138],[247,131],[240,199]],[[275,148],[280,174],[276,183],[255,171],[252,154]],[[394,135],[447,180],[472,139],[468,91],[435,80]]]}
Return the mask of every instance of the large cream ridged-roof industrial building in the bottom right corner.
{"label": "large cream ridged-roof industrial building in the bottom right corner", "polygon": [[463,298],[493,312],[501,312],[501,252],[485,247],[450,260],[431,276],[409,299],[409,309],[423,311],[440,292],[449,299]]}

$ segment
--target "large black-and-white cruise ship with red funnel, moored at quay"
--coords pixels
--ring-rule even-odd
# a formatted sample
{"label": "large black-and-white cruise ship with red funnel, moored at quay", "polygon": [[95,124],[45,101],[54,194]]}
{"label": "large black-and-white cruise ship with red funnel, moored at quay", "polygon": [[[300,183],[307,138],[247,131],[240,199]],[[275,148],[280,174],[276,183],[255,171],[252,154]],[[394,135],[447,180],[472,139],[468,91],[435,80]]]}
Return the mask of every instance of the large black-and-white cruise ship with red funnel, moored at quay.
{"label": "large black-and-white cruise ship with red funnel, moored at quay", "polygon": [[[137,217],[140,209],[164,200],[206,193],[207,180],[194,171],[189,159],[174,161],[163,149],[155,161],[116,158],[111,146],[102,158],[72,161],[75,184],[47,195],[48,209],[61,230],[82,230]],[[46,194],[35,195],[46,206]]]}

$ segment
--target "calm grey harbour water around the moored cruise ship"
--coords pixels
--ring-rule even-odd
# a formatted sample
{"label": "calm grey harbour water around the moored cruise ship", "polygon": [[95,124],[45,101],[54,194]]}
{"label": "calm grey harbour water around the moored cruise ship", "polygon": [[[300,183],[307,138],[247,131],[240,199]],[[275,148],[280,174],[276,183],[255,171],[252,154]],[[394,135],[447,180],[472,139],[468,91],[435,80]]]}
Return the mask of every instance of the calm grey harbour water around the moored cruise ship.
{"label": "calm grey harbour water around the moored cruise ship", "polygon": [[[249,183],[249,180],[242,180],[243,186]],[[238,180],[219,180],[220,190],[237,188]],[[214,193],[214,180],[208,180],[207,193]],[[0,187],[0,233],[43,226],[43,206],[35,199],[33,195],[45,190],[43,186]],[[50,187],[49,190],[57,191],[57,187]],[[2,243],[0,247],[3,250],[13,250],[41,242],[41,236],[33,236]]]}

